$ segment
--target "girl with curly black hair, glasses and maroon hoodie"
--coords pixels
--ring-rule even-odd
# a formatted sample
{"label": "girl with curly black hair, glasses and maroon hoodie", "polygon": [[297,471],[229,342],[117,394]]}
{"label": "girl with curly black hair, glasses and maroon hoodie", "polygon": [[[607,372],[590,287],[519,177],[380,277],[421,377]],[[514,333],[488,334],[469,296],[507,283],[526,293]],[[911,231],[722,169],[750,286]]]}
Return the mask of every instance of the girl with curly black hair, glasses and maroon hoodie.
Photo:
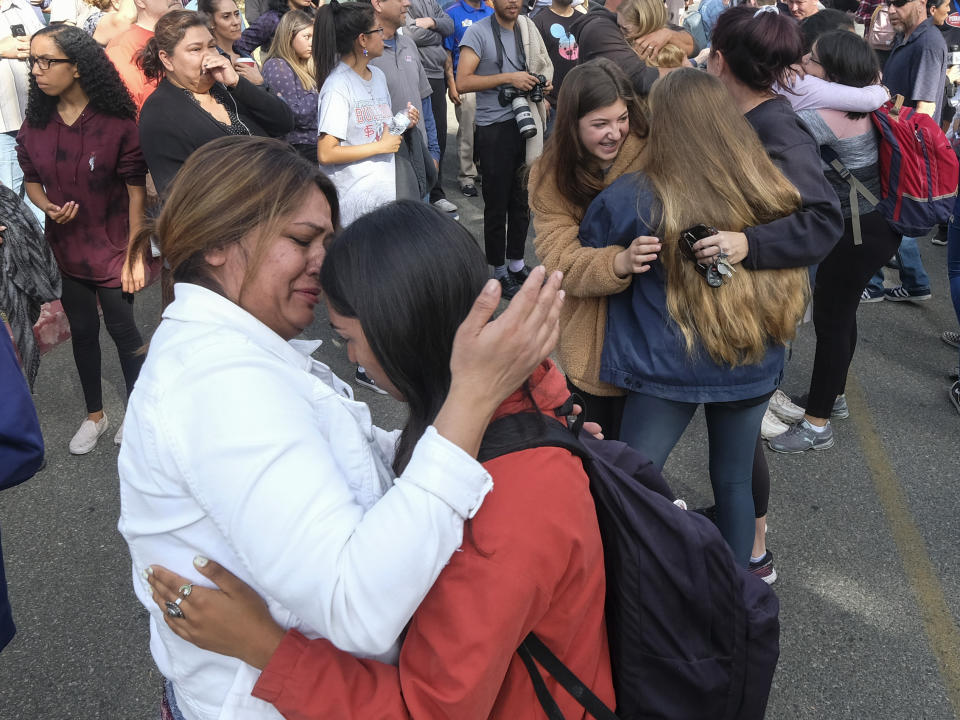
{"label": "girl with curly black hair, glasses and maroon hoodie", "polygon": [[[61,302],[87,417],[70,452],[90,452],[109,422],[100,378],[100,317],[117,346],[127,395],[143,364],[133,295],[145,268],[131,259],[143,222],[147,166],[136,109],[113,63],[72,25],[53,25],[30,40],[26,122],[17,157],[30,200],[46,214],[46,238],[63,277]],[[120,444],[123,426],[114,442]]]}

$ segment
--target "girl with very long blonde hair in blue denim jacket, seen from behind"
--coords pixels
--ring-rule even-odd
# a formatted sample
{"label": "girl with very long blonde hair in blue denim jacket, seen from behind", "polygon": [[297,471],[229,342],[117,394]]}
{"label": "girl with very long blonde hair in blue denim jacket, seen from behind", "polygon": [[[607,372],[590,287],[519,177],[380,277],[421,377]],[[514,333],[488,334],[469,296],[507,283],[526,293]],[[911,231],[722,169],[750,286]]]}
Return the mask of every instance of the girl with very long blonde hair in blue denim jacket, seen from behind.
{"label": "girl with very long blonde hair in blue denim jacket, seen from behind", "polygon": [[740,231],[791,215],[796,188],[777,169],[723,85],[678,69],[650,94],[641,171],[590,205],[589,247],[662,240],[650,272],[608,299],[600,380],[628,391],[621,439],[659,466],[705,406],[717,522],[747,566],[751,477],[766,401],[809,294],[805,264],[754,270],[690,249],[713,227]]}

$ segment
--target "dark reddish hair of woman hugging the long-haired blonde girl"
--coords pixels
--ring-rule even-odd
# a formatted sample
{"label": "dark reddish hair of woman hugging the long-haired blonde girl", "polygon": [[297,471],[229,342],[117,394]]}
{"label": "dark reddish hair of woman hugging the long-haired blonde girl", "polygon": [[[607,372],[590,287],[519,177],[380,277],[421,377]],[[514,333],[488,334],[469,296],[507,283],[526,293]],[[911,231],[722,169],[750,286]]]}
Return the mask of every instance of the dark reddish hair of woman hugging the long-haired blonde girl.
{"label": "dark reddish hair of woman hugging the long-haired blonde girl", "polygon": [[710,52],[723,55],[733,77],[758,92],[770,90],[774,83],[787,85],[790,66],[803,58],[796,20],[743,5],[720,13],[710,43]]}

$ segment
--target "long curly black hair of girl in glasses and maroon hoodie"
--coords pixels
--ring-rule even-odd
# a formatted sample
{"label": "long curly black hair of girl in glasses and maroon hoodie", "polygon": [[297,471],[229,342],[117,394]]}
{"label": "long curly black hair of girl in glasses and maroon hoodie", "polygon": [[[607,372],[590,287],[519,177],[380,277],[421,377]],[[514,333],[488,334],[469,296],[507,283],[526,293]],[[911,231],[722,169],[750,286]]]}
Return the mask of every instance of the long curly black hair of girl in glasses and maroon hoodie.
{"label": "long curly black hair of girl in glasses and maroon hoodie", "polygon": [[[126,85],[110,62],[110,58],[97,42],[83,30],[73,25],[50,25],[37,30],[30,38],[49,35],[57,47],[77,66],[78,82],[90,106],[105,115],[137,119],[137,108],[130,99]],[[26,122],[29,127],[43,128],[50,122],[59,98],[47,95],[37,85],[30,73],[30,88],[27,91]]]}

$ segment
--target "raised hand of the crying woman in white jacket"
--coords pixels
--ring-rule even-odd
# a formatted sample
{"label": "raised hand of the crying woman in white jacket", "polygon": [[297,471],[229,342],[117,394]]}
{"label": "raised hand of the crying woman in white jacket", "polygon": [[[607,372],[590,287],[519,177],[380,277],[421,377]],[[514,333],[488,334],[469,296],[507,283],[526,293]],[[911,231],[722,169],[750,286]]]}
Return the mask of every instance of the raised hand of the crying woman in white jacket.
{"label": "raised hand of the crying woman in white jacket", "polygon": [[[546,282],[544,280],[546,279]],[[472,393],[491,412],[550,354],[560,337],[563,273],[534,268],[496,320],[500,283],[490,280],[461,323],[450,357],[451,394]]]}

